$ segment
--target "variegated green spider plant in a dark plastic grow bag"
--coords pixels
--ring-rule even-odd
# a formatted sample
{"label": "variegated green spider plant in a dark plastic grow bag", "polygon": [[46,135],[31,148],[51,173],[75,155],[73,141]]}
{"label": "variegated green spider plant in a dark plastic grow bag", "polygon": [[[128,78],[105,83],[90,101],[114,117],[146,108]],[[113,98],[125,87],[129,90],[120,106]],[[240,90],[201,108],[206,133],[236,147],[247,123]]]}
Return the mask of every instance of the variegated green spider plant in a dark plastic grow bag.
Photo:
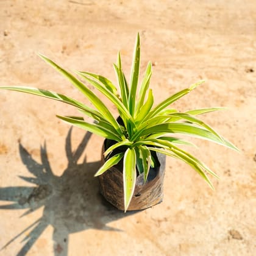
{"label": "variegated green spider plant in a dark plastic grow bag", "polygon": [[140,88],[138,88],[140,71],[140,35],[138,34],[129,83],[124,76],[119,53],[117,64],[114,65],[120,94],[115,85],[107,78],[99,74],[76,71],[77,75],[93,85],[115,105],[119,113],[119,117],[116,119],[87,85],[44,55],[39,55],[41,59],[70,80],[94,105],[94,108],[53,91],[29,87],[1,88],[35,94],[73,105],[79,112],[93,119],[94,122],[88,123],[80,116],[57,115],[58,118],[69,124],[105,138],[102,149],[103,165],[95,176],[99,176],[101,193],[113,205],[126,212],[126,210],[147,208],[162,201],[165,168],[163,155],[184,161],[213,188],[207,174],[216,178],[218,176],[207,165],[181,149],[182,144],[191,143],[177,138],[176,134],[202,138],[236,149],[232,143],[222,138],[215,130],[196,117],[221,108],[203,108],[187,112],[168,108],[174,101],[201,85],[203,81],[169,96],[153,107],[154,94],[149,89],[152,74],[151,62],[148,63],[146,73]]}

